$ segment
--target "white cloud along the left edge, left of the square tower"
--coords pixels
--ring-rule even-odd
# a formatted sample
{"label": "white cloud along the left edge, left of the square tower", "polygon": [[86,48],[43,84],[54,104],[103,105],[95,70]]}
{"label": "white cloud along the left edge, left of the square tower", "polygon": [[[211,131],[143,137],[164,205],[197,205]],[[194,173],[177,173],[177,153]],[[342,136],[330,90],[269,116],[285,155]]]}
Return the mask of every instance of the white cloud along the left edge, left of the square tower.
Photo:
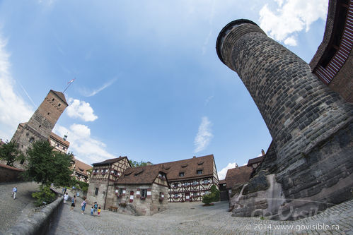
{"label": "white cloud along the left edge, left of the square tower", "polygon": [[33,108],[14,90],[15,80],[10,72],[10,55],[5,50],[6,40],[0,37],[0,138],[11,140],[18,123],[28,121]]}

